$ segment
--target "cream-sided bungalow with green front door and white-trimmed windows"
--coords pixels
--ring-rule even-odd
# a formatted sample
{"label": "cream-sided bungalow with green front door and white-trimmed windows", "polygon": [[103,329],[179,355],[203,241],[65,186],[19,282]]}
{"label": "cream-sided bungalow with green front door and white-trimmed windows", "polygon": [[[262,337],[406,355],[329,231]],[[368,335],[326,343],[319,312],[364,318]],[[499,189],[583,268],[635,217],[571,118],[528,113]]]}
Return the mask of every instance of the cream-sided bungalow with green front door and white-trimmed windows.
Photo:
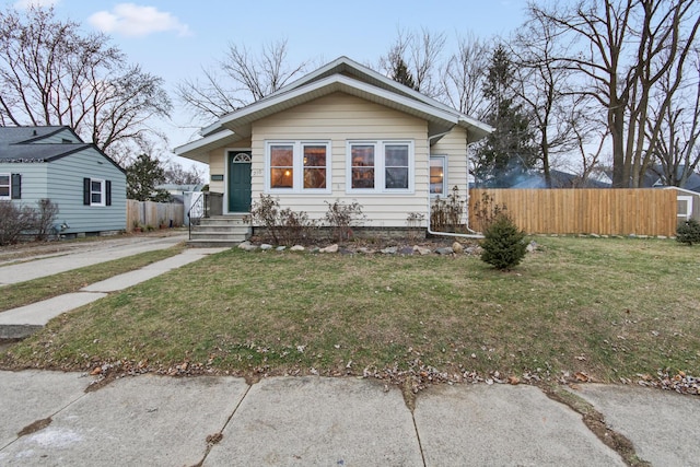
{"label": "cream-sided bungalow with green front door and white-trimmed windows", "polygon": [[[431,197],[467,194],[468,145],[491,128],[346,57],[224,115],[176,154],[209,164],[224,217],[260,195],[322,220],[358,202],[364,227],[427,227]],[[256,227],[258,225],[253,225]]]}

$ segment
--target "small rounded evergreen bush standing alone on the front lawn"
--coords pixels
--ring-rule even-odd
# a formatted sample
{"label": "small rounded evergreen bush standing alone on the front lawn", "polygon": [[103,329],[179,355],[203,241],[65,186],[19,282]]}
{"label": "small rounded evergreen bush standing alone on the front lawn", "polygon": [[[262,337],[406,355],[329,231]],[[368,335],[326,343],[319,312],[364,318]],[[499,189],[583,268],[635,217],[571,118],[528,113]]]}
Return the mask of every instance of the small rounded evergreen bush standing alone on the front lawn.
{"label": "small rounded evergreen bush standing alone on the front lawn", "polygon": [[498,214],[483,231],[481,260],[500,270],[512,269],[525,257],[525,232],[513,220]]}

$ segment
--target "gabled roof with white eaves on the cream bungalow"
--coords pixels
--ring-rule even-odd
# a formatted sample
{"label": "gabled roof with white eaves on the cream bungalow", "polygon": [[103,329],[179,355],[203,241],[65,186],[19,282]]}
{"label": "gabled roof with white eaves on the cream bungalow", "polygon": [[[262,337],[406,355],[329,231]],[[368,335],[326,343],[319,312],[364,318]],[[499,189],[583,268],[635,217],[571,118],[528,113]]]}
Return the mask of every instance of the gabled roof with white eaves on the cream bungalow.
{"label": "gabled roof with white eaves on the cream bungalow", "polygon": [[[275,93],[221,117],[201,130],[202,139],[175,149],[179,155],[196,156],[224,142],[250,136],[252,124],[325,95],[342,92],[422,118],[430,137],[450,131],[454,126],[467,128],[475,139],[492,131],[491,127],[374,70],[340,57]],[[226,132],[226,130],[229,132]]]}

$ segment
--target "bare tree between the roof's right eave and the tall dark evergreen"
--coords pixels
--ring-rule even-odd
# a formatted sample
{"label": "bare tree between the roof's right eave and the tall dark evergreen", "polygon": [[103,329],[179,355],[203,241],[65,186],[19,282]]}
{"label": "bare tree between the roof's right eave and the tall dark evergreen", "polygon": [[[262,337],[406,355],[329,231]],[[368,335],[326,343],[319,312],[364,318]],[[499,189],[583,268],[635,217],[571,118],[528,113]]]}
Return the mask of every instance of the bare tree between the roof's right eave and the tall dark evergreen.
{"label": "bare tree between the roof's right eave and the tall dark evergreen", "polygon": [[485,116],[488,102],[482,89],[490,56],[491,46],[486,40],[474,34],[458,38],[457,51],[440,72],[440,94],[446,104],[475,118]]}

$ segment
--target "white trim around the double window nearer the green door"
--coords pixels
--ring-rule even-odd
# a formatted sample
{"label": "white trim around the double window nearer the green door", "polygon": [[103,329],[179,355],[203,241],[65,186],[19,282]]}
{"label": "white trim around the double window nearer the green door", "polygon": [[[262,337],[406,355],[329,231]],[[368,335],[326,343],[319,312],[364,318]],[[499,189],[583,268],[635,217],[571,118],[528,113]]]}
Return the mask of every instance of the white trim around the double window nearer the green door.
{"label": "white trim around the double window nearer the green door", "polygon": [[[291,188],[272,188],[270,180],[271,153],[270,148],[273,145],[291,145],[293,152],[292,159],[292,187]],[[304,147],[305,145],[325,145],[326,147],[326,188],[304,188]],[[266,194],[303,194],[303,195],[327,195],[331,192],[330,186],[330,160],[332,159],[330,151],[330,141],[322,140],[270,140],[265,141],[265,192]]]}

